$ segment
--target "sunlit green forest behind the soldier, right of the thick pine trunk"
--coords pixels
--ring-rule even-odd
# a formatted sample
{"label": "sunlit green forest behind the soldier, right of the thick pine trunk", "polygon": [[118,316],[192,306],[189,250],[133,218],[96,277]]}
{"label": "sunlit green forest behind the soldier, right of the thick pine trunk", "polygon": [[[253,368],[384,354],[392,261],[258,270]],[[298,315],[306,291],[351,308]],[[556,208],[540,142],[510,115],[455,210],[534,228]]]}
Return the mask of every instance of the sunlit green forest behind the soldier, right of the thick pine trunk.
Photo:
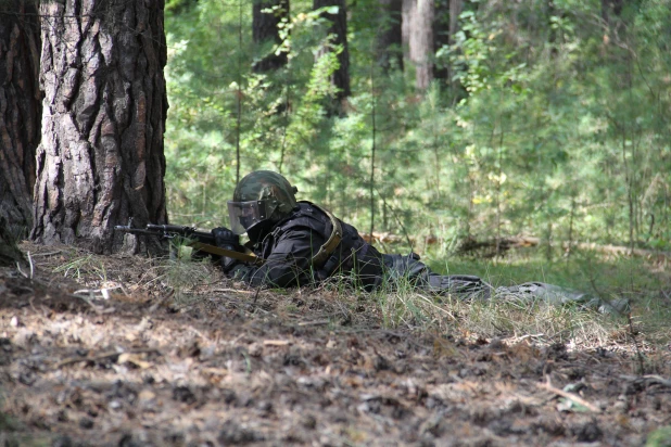
{"label": "sunlit green forest behind the soldier, right of the thick pine trunk", "polygon": [[168,2],[173,221],[226,222],[264,168],[440,253],[519,234],[555,241],[549,258],[560,241],[669,248],[668,1],[317,3],[263,3],[263,40],[246,1]]}

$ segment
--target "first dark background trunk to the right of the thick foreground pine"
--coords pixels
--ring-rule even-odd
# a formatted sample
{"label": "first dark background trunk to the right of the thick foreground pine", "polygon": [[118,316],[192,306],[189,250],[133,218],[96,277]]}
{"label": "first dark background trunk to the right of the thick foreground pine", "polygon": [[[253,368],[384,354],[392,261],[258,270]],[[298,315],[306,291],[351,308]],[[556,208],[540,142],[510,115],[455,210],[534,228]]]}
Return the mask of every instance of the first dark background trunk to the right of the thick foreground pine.
{"label": "first dark background trunk to the right of the thick foreground pine", "polygon": [[[273,12],[264,12],[271,10]],[[254,72],[265,73],[287,65],[287,53],[276,52],[282,43],[279,25],[289,18],[289,0],[254,0],[252,7],[252,35],[254,43],[266,51],[262,59],[254,63]],[[267,43],[273,43],[271,52],[267,52]]]}

